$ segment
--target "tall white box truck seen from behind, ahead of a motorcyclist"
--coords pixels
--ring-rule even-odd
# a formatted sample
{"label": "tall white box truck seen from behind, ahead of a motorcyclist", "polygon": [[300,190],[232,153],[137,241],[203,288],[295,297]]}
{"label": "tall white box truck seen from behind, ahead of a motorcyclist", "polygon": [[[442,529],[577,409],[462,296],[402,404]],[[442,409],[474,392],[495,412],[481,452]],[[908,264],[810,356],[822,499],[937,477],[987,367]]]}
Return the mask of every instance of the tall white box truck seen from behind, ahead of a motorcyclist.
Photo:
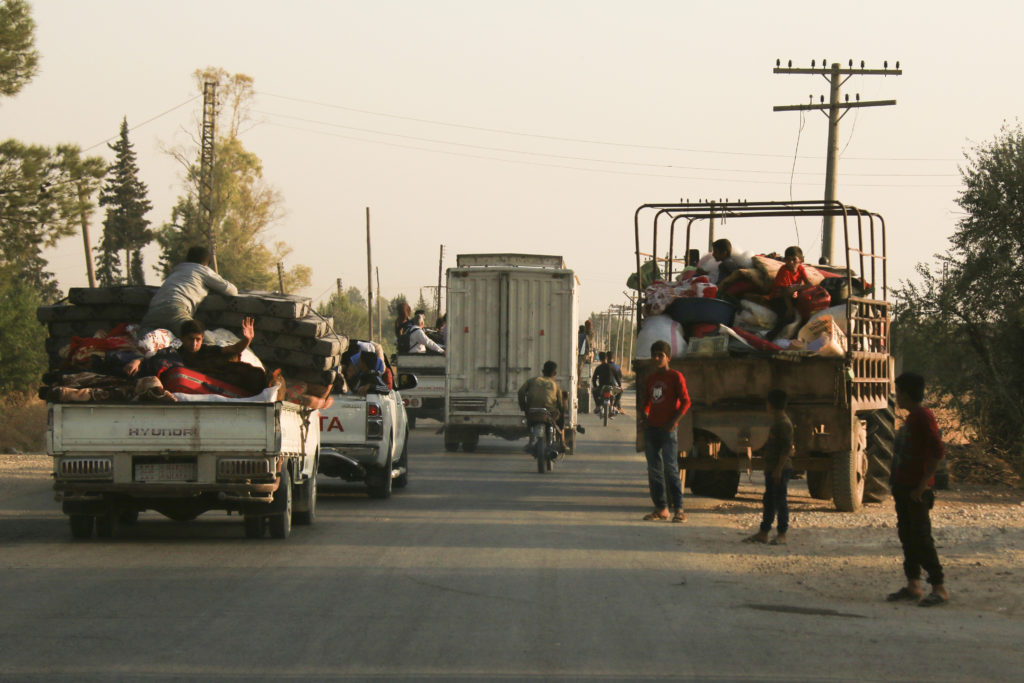
{"label": "tall white box truck seen from behind, ahead of a motorcyclist", "polygon": [[566,446],[577,425],[579,282],[560,256],[460,254],[447,270],[444,447],[527,435],[519,387],[558,364]]}

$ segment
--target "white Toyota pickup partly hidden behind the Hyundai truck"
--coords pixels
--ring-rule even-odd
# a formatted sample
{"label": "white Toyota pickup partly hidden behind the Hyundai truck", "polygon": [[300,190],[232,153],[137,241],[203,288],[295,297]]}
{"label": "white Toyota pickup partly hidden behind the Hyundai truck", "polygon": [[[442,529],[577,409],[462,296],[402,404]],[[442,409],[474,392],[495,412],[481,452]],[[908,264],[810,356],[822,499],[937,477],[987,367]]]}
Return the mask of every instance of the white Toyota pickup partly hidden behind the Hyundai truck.
{"label": "white Toyota pickup partly hidden behind the Hyundai truck", "polygon": [[387,393],[334,393],[319,412],[319,472],[361,481],[372,498],[389,498],[409,483],[409,417],[400,391],[415,389],[415,375],[399,373]]}

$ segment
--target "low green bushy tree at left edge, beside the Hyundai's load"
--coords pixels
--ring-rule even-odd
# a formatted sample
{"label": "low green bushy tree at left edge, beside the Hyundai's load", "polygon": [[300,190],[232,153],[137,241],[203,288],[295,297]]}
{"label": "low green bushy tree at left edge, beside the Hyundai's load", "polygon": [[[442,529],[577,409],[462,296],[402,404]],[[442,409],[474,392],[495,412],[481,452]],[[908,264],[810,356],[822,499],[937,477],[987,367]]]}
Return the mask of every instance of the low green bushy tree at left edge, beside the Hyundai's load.
{"label": "low green bushy tree at left edge, beside the Hyundai's load", "polygon": [[12,265],[0,264],[0,395],[31,393],[46,372],[42,299]]}

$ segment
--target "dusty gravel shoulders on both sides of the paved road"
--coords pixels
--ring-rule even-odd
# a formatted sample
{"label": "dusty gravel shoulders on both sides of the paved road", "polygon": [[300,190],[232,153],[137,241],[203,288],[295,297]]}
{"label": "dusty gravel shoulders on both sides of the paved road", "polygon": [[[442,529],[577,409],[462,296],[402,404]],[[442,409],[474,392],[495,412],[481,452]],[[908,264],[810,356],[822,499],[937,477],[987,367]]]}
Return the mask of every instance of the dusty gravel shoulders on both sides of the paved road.
{"label": "dusty gravel shoulders on both sides of the paved road", "polygon": [[[45,455],[0,455],[0,497],[16,499],[27,489],[38,490],[46,486],[49,472]],[[810,498],[798,480],[791,486],[790,544],[740,543],[759,520],[762,481],[760,472],[752,479],[743,475],[732,501],[687,492],[690,520],[678,543],[706,550],[710,570],[744,575],[786,593],[877,603],[900,586],[901,554],[891,503],[868,505],[857,514],[838,513],[829,502]],[[49,497],[32,498],[40,507],[55,508]],[[939,492],[932,520],[953,598],[943,609],[1024,613],[1024,490],[954,483]]]}

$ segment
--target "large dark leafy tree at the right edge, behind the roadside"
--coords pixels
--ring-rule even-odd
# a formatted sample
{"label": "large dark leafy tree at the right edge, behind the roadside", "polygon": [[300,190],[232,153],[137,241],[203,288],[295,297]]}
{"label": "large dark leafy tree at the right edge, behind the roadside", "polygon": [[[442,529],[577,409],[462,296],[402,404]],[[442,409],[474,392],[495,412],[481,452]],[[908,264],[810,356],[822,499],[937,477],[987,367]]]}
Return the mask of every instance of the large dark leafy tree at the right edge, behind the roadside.
{"label": "large dark leafy tree at the right edge, behind the roadside", "polygon": [[989,445],[1024,444],[1024,130],[966,155],[949,250],[896,289],[894,343]]}

